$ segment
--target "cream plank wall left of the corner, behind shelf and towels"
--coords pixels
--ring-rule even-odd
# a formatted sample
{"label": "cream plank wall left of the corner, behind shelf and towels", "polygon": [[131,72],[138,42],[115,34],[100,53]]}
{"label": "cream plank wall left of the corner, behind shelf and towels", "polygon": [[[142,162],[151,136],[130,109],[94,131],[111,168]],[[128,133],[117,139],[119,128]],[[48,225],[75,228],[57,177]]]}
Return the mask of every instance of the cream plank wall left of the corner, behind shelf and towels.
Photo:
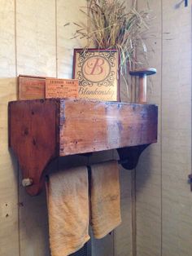
{"label": "cream plank wall left of the corner, behind shelf and towels", "polygon": [[[79,7],[85,0],[2,0],[0,4],[0,255],[49,256],[46,193],[31,197],[21,186],[20,170],[7,147],[7,103],[16,99],[19,74],[72,77],[72,49],[85,42],[71,40],[85,21]],[[110,160],[113,151],[93,157],[67,157],[50,168]],[[120,171],[123,222],[104,240],[92,240],[93,256],[131,255],[130,173]]]}

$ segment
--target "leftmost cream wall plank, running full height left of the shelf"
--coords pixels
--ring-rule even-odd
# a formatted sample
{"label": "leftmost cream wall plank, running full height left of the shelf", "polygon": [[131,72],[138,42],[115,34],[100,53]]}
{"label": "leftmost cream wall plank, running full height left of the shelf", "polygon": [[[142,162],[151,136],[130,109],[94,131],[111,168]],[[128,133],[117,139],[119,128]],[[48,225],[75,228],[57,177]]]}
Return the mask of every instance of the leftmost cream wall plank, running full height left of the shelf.
{"label": "leftmost cream wall plank, running full height left of the shelf", "polygon": [[8,151],[7,103],[15,90],[15,4],[0,5],[0,255],[19,256],[17,163]]}

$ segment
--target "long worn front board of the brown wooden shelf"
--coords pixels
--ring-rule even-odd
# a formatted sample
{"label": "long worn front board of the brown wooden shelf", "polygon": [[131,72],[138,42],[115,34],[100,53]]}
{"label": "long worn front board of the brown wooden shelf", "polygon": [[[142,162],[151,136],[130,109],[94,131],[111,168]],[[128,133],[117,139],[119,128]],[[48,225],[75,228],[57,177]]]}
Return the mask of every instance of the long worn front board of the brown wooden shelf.
{"label": "long worn front board of the brown wooden shelf", "polygon": [[61,100],[60,156],[157,140],[155,105]]}

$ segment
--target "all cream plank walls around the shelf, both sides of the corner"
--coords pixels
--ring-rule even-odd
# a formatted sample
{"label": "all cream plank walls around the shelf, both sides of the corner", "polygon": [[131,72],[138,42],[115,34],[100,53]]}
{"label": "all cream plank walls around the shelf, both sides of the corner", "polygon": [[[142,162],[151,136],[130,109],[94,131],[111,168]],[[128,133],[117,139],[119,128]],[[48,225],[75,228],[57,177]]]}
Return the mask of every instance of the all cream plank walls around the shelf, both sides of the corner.
{"label": "all cream plank walls around the shelf, both sides of the corner", "polygon": [[[145,5],[138,1],[138,8]],[[128,6],[132,0],[127,2]],[[149,63],[158,73],[148,101],[159,105],[159,143],[143,152],[136,170],[137,256],[190,256],[192,251],[191,14],[173,0],[149,0],[155,12]],[[190,3],[189,3],[190,4]],[[46,195],[28,196],[7,147],[7,102],[16,99],[22,74],[71,77],[72,29],[84,20],[85,0],[1,0],[0,5],[0,255],[49,256]],[[154,52],[153,52],[154,51]],[[123,91],[125,97],[125,92]],[[114,152],[77,157],[77,163],[111,159]],[[69,165],[55,161],[53,170]],[[130,172],[120,170],[123,223],[103,241],[93,239],[93,256],[131,256]],[[135,255],[133,255],[135,256]]]}

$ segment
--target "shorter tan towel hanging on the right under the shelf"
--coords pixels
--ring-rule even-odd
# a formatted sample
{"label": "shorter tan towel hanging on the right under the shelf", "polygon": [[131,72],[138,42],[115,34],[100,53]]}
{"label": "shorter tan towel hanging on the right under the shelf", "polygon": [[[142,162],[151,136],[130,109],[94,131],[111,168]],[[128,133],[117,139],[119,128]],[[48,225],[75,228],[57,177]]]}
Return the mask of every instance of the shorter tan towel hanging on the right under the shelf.
{"label": "shorter tan towel hanging on the right under the shelf", "polygon": [[91,225],[103,238],[121,223],[120,181],[116,161],[91,166]]}

